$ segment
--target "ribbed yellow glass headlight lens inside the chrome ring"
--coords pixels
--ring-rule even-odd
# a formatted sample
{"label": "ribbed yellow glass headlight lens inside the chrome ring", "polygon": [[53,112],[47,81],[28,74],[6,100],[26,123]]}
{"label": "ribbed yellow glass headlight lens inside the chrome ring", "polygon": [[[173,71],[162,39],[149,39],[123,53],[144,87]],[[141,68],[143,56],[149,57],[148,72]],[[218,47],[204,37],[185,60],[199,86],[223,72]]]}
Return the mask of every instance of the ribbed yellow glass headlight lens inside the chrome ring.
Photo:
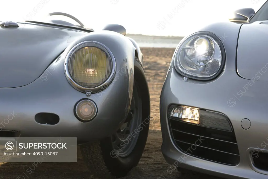
{"label": "ribbed yellow glass headlight lens inside the chrome ring", "polygon": [[83,46],[70,55],[69,72],[83,87],[92,88],[109,78],[113,64],[110,55],[95,46]]}

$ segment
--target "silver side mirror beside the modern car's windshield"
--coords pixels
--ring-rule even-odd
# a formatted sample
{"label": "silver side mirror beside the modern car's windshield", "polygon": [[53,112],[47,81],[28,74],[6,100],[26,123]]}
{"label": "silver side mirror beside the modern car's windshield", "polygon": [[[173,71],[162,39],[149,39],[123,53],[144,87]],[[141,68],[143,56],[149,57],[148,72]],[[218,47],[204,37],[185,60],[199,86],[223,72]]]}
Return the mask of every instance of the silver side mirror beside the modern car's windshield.
{"label": "silver side mirror beside the modern car's windshield", "polygon": [[238,9],[233,13],[233,17],[229,18],[229,20],[235,23],[246,23],[254,14],[255,11],[252,8]]}

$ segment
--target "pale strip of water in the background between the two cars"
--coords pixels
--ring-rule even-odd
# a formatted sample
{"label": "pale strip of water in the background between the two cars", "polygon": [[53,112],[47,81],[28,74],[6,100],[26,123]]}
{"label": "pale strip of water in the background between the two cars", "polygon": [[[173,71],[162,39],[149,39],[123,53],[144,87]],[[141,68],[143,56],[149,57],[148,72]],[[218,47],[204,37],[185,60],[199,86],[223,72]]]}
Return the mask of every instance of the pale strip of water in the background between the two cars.
{"label": "pale strip of water in the background between the two cars", "polygon": [[183,37],[165,37],[165,36],[147,36],[127,34],[127,37],[133,38],[140,47],[157,47],[157,48],[176,48]]}

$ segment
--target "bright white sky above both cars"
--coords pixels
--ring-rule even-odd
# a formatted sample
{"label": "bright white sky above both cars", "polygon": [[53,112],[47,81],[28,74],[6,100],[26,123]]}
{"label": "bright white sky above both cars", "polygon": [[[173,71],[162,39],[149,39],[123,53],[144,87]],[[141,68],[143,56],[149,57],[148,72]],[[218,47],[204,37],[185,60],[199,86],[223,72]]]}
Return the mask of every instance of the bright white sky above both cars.
{"label": "bright white sky above both cars", "polygon": [[[253,8],[256,12],[265,2],[266,0],[2,0],[0,21],[40,20],[50,12],[65,12],[94,30],[115,23],[124,26],[127,33],[131,34],[185,36],[211,23],[228,21],[234,10]],[[64,17],[55,18],[73,22]]]}

